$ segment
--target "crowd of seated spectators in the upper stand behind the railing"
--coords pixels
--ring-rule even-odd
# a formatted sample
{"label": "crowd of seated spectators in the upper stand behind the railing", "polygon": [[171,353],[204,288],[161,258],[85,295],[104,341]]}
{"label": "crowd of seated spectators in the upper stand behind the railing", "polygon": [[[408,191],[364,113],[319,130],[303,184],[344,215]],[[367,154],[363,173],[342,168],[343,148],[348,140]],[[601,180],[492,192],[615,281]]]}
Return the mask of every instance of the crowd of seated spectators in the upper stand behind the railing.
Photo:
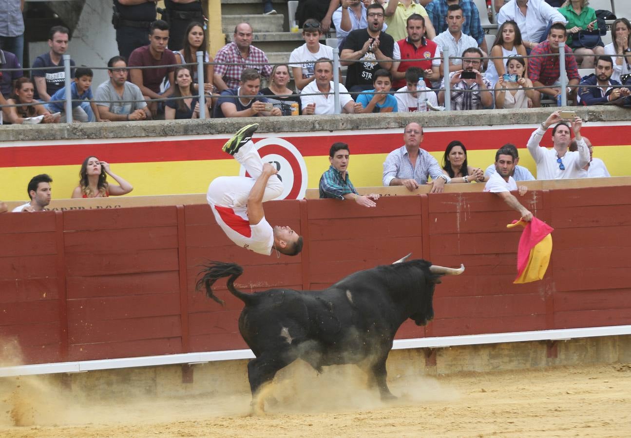
{"label": "crowd of seated spectators in the upper stand behind the railing", "polygon": [[[11,105],[3,108],[4,123],[65,122],[63,55],[69,30],[50,29],[49,52],[35,59],[32,77],[25,78],[23,2],[8,3],[0,12],[0,22],[6,23],[0,25],[0,64],[11,69],[0,77],[0,105]],[[320,43],[331,26],[340,64],[346,66],[339,84],[344,113],[440,110],[447,83],[452,110],[539,107],[541,100],[560,106],[563,95],[575,105],[630,107],[631,24],[626,18],[613,21],[611,43],[604,45],[605,21],[587,4],[495,1],[498,30],[488,47],[473,0],[331,0],[326,10],[305,2],[297,11],[305,43],[287,64],[272,66],[252,44],[249,23],[235,26],[232,42],[210,57],[198,1],[167,0],[164,20],[155,20],[154,0],[115,0],[119,55],[107,64],[109,81],[95,91],[93,72],[69,61],[72,118],[116,122],[199,118],[201,113],[216,118],[334,113],[333,49]],[[276,13],[269,2],[263,2],[263,10]],[[200,50],[203,78],[196,65]],[[444,50],[449,50],[449,65],[444,65]],[[579,66],[592,71],[581,76]]]}

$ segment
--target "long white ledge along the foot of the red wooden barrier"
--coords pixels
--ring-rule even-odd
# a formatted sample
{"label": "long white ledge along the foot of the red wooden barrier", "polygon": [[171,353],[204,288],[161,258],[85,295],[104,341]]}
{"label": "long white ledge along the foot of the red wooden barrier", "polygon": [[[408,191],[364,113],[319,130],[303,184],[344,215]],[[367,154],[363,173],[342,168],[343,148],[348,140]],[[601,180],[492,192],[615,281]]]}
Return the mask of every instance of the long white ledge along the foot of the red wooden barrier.
{"label": "long white ledge along the foot of the red wooden barrier", "polygon": [[[392,350],[456,347],[504,342],[528,342],[542,340],[568,340],[604,336],[631,335],[631,325],[589,328],[565,328],[560,330],[516,331],[486,335],[447,336],[433,338],[394,340]],[[61,372],[86,372],[101,369],[150,367],[177,364],[198,364],[215,360],[253,359],[252,350],[226,350],[199,353],[165,354],[159,356],[124,357],[121,359],[80,360],[54,364],[20,365],[0,367],[0,377],[57,374]]]}

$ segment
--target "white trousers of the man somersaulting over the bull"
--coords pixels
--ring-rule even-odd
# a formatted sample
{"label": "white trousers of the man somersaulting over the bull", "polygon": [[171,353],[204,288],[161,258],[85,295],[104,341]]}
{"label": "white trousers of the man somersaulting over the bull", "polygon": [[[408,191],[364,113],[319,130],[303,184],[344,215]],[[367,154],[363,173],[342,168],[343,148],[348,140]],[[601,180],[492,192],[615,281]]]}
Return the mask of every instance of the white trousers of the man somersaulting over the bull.
{"label": "white trousers of the man somersaulting over the bull", "polygon": [[[256,179],[263,171],[263,162],[252,141],[247,142],[234,154],[234,158],[245,167],[248,176],[219,176],[208,186],[206,200],[210,205],[221,207],[245,207]],[[279,197],[283,193],[283,183],[277,175],[269,177],[263,195],[263,202]]]}

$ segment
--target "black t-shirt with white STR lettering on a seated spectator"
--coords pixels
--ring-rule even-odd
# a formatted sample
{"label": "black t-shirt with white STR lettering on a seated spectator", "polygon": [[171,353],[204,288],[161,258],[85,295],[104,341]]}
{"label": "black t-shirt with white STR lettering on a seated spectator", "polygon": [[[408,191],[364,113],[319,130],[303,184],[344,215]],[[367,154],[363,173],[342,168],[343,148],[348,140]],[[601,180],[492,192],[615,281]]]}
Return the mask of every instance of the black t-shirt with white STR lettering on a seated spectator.
{"label": "black t-shirt with white STR lettering on a seated spectator", "polygon": [[[346,37],[342,50],[350,49],[353,52],[357,52],[357,50],[362,49],[363,43],[365,43],[368,38],[370,38],[368,30],[353,30],[353,32],[349,33],[348,37]],[[394,38],[385,32],[381,32],[379,34],[379,50],[381,50],[382,54],[392,58]],[[353,62],[353,64],[348,66],[348,71],[346,72],[346,89],[350,89],[351,86],[354,85],[372,85],[372,75],[375,71],[383,68],[379,66],[375,54],[372,52],[366,52],[360,61],[362,60],[363,62]]]}

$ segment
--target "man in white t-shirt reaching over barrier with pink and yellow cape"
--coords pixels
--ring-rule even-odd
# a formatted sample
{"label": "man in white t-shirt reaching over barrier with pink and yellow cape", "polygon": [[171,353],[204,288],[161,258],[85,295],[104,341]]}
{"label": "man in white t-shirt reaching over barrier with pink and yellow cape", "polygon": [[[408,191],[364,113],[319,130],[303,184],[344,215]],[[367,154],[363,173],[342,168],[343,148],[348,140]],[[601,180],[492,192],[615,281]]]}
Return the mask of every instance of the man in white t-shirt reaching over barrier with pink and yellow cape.
{"label": "man in white t-shirt reaching over barrier with pink and yellow cape", "polygon": [[[506,144],[504,146],[512,145]],[[533,214],[521,205],[515,195],[510,193],[519,190],[519,195],[523,196],[528,188],[524,185],[517,187],[517,183],[512,177],[515,171],[516,157],[512,149],[504,146],[495,153],[495,173],[488,178],[484,191],[498,195],[510,208],[519,212],[524,221],[530,222],[533,220]]]}

